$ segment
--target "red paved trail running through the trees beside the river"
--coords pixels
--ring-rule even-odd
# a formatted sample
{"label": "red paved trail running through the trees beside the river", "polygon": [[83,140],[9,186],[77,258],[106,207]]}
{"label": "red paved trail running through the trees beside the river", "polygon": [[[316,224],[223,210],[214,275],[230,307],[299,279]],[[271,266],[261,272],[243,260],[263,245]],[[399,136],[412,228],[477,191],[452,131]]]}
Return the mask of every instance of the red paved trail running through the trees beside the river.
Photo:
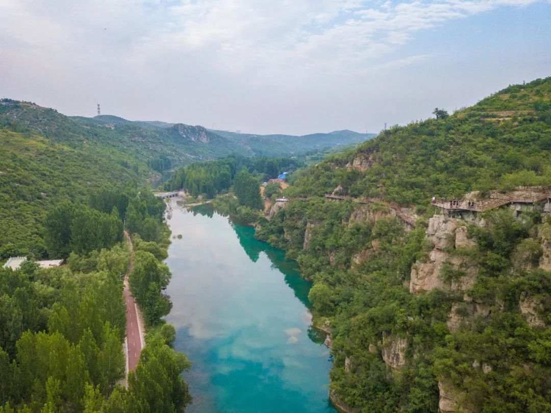
{"label": "red paved trail running through the trees beside the river", "polygon": [[142,351],[142,340],[140,337],[140,331],[138,326],[138,314],[136,310],[136,303],[134,303],[134,297],[130,293],[128,288],[128,275],[132,272],[134,267],[134,249],[132,246],[132,240],[128,236],[128,232],[125,231],[126,240],[130,247],[130,264],[128,265],[128,271],[125,276],[125,304],[126,304],[126,342],[127,342],[127,366],[128,371],[132,371],[138,364],[139,355]]}

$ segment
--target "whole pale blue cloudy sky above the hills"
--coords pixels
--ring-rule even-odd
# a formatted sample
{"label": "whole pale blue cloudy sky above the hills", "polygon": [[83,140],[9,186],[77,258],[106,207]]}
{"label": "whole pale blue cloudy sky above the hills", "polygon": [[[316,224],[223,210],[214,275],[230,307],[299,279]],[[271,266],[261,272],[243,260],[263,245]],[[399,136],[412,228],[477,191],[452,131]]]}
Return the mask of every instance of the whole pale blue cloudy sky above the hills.
{"label": "whole pale blue cloudy sky above the hills", "polygon": [[551,0],[0,0],[0,97],[247,133],[384,127],[551,76]]}

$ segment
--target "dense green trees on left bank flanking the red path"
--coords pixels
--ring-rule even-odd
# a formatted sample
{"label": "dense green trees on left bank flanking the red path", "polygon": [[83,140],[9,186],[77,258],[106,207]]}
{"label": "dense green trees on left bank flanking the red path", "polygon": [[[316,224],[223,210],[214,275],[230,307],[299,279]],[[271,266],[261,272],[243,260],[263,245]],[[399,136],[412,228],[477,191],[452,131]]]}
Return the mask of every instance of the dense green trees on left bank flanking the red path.
{"label": "dense green trees on left bank flanking the red path", "polygon": [[[89,203],[61,202],[46,214],[49,254],[67,264],[0,269],[0,412],[182,411],[191,400],[180,373],[190,366],[169,346],[174,328],[153,330],[128,389],[122,276],[130,256],[122,219],[136,244],[132,291],[149,326],[170,310],[164,202],[147,190],[104,188]],[[142,238],[143,237],[143,238]],[[147,389],[145,391],[144,389]]]}

